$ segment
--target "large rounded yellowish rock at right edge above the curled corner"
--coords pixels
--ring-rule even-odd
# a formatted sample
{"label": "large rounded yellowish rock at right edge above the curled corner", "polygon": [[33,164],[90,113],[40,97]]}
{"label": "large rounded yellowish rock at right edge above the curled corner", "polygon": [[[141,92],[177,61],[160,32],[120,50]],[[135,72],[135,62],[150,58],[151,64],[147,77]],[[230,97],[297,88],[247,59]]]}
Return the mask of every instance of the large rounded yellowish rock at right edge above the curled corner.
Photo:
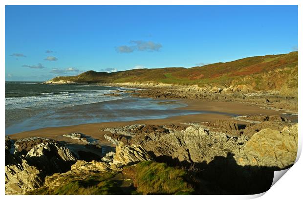
{"label": "large rounded yellowish rock at right edge above the curled corner", "polygon": [[281,132],[263,129],[255,133],[239,156],[239,165],[264,166],[284,169],[294,164],[298,150],[298,124]]}

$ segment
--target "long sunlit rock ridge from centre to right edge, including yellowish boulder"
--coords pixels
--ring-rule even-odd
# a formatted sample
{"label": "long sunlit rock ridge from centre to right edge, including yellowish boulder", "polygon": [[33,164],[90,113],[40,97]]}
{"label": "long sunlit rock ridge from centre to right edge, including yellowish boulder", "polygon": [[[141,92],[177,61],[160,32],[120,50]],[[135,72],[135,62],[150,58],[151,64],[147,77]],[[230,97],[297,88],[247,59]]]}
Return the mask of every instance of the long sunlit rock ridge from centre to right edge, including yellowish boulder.
{"label": "long sunlit rock ridge from centre to right edge, including yellowish boulder", "polygon": [[[225,126],[237,129],[234,124]],[[232,154],[239,166],[284,169],[294,163],[297,155],[298,124],[290,128],[286,126],[282,131],[262,129],[251,139],[245,134],[230,136],[204,127],[190,126],[181,131],[165,126],[158,128],[143,127],[128,143],[140,145],[156,160],[166,162],[172,159],[187,163],[209,163],[215,157]],[[123,142],[119,146],[123,147]],[[121,151],[119,146],[117,150]],[[120,155],[116,153],[114,158],[117,156]],[[125,159],[123,154],[119,161],[121,159]]]}

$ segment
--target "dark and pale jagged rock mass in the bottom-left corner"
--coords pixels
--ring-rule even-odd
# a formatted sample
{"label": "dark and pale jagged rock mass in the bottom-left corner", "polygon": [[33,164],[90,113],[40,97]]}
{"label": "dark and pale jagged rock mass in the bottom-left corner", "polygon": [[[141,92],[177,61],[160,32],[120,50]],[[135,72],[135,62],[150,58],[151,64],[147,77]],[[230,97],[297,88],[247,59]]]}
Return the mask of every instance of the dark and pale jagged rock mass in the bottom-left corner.
{"label": "dark and pale jagged rock mass in the bottom-left corner", "polygon": [[41,137],[20,139],[5,147],[5,194],[25,194],[43,185],[44,177],[66,172],[75,163],[73,153],[55,140]]}

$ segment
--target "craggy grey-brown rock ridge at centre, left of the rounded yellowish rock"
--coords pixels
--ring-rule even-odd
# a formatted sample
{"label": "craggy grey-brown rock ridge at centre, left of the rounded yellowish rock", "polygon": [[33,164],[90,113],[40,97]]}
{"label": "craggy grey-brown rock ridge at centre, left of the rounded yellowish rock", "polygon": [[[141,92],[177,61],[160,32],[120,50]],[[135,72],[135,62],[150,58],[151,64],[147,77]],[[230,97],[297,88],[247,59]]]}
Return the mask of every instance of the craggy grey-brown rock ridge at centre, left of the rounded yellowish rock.
{"label": "craggy grey-brown rock ridge at centre, left of the rounded yellowish rock", "polygon": [[[141,145],[156,157],[172,157],[180,162],[210,162],[215,156],[226,156],[237,152],[239,145],[248,140],[245,135],[230,137],[203,128],[188,127],[182,131],[161,131],[149,129],[150,133],[136,133],[130,144]],[[163,132],[163,130],[165,130]]]}

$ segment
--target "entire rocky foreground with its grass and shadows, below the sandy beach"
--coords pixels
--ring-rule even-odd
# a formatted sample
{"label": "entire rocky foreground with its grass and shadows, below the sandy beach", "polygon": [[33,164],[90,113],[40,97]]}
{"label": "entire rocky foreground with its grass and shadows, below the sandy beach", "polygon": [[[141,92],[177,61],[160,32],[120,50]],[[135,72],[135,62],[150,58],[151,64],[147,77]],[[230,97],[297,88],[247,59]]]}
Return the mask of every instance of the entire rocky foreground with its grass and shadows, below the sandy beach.
{"label": "entire rocky foreground with its grass and shadows, below the sandy beach", "polygon": [[294,164],[298,124],[278,116],[242,120],[251,123],[108,128],[115,152],[90,161],[52,139],[6,137],[5,194],[261,193],[274,171]]}

